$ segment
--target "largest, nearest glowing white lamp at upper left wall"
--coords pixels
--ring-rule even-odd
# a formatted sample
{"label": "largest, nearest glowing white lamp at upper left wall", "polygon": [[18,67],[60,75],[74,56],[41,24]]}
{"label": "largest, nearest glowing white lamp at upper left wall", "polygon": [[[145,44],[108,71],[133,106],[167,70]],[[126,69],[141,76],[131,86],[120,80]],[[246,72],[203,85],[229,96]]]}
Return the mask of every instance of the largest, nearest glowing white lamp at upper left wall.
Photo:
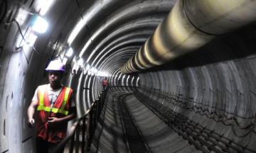
{"label": "largest, nearest glowing white lamp at upper left wall", "polygon": [[48,23],[45,19],[43,19],[41,16],[35,15],[35,21],[32,21],[31,26],[32,30],[38,32],[38,33],[46,33],[46,30],[48,28]]}

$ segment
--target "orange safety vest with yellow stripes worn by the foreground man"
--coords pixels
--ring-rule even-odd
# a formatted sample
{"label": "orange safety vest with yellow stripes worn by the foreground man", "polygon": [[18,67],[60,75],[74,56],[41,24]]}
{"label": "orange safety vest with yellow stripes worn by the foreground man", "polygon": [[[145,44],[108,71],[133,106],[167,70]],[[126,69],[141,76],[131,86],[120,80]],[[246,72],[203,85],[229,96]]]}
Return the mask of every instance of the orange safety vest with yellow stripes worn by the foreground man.
{"label": "orange safety vest with yellow stripes worn by the foreground man", "polygon": [[50,101],[48,97],[47,84],[38,86],[38,118],[36,120],[36,135],[42,137],[43,140],[52,143],[58,143],[64,139],[68,123],[60,123],[56,127],[48,127],[47,121],[49,117],[63,118],[68,115],[70,95],[72,89],[63,87],[53,108],[50,110]]}

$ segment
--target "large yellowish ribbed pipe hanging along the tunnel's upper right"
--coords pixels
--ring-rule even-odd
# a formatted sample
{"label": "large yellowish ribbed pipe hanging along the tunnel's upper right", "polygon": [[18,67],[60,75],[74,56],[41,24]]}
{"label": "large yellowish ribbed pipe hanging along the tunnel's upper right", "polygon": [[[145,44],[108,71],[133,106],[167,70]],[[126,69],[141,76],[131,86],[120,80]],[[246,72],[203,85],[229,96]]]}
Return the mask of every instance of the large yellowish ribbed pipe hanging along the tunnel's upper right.
{"label": "large yellowish ribbed pipe hanging along the tunnel's upper right", "polygon": [[164,64],[255,21],[256,0],[178,0],[121,72]]}

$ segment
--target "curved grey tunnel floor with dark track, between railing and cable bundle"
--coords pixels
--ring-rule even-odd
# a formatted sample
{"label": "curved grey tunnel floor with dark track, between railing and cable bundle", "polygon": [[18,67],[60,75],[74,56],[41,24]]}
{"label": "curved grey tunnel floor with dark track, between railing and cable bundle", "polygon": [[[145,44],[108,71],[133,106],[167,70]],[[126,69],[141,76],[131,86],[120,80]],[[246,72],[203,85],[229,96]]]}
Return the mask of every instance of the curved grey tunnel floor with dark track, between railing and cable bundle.
{"label": "curved grey tunnel floor with dark track, between railing and cable bundle", "polygon": [[137,88],[110,88],[91,152],[201,152],[169,128],[135,93],[139,93]]}

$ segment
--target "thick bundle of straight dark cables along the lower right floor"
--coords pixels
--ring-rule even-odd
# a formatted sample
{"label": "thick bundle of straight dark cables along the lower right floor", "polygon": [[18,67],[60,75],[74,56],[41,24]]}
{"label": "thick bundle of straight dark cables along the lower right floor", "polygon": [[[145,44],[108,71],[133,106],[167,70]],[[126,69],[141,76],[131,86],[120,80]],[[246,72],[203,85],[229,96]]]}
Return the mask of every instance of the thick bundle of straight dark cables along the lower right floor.
{"label": "thick bundle of straight dark cables along the lower right floor", "polygon": [[171,129],[177,132],[178,135],[181,135],[183,139],[188,140],[188,143],[202,152],[255,152],[255,150],[239,145],[233,140],[219,135],[214,130],[209,130],[193,120],[172,111],[167,106],[139,91],[135,92],[134,96],[163,120],[166,125],[169,125]]}

